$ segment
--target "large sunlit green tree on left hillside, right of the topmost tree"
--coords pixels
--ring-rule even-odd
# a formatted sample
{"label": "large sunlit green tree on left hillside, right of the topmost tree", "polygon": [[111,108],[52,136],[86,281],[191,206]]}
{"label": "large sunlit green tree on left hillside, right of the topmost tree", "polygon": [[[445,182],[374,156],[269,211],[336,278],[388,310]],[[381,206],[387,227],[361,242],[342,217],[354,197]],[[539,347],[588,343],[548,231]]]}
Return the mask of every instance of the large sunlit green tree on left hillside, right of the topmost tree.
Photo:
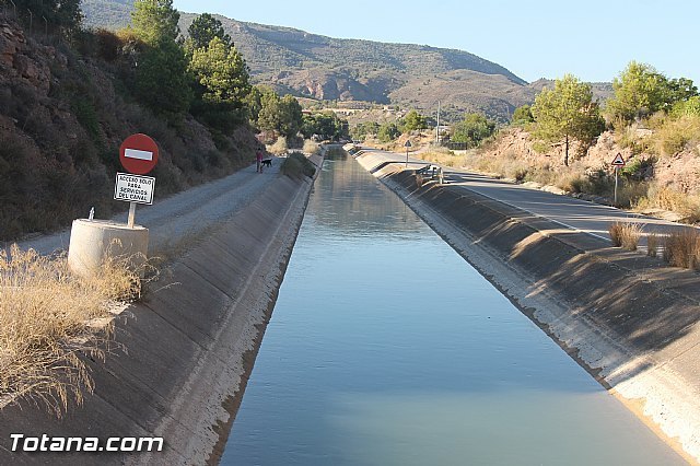
{"label": "large sunlit green tree on left hillside, right of the topmost tree", "polygon": [[196,82],[196,116],[221,130],[242,121],[250,83],[245,60],[235,47],[214,36],[206,48],[192,51],[189,71]]}

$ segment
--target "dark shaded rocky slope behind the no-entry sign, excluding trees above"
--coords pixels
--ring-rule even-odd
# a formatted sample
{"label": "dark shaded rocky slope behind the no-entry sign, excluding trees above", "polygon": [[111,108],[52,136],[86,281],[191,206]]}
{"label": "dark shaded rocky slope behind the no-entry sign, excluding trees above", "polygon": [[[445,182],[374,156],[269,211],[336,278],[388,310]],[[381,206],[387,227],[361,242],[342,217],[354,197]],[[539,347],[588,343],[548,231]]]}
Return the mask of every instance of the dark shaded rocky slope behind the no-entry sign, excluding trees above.
{"label": "dark shaded rocky slope behind the no-entry sign, excluding trees above", "polygon": [[43,38],[0,14],[0,241],[69,225],[93,206],[103,219],[124,209],[112,200],[114,177],[119,145],[133,132],[161,149],[156,200],[252,159],[247,128],[215,142],[191,117],[174,128],[133,102],[124,79],[130,65]]}

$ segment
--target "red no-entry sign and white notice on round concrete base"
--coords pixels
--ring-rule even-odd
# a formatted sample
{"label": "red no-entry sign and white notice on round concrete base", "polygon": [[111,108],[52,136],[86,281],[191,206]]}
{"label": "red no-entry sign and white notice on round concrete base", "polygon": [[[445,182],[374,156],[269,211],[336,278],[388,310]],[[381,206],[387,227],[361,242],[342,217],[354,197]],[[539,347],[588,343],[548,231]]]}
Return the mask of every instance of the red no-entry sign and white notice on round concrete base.
{"label": "red no-entry sign and white notice on round concrete base", "polygon": [[145,135],[131,135],[119,148],[119,161],[128,173],[117,173],[114,188],[116,200],[129,202],[127,224],[94,219],[91,209],[86,219],[73,220],[68,248],[68,266],[83,277],[101,272],[108,257],[126,257],[142,277],[147,261],[149,229],[136,224],[136,205],[153,203],[155,178],[143,176],[158,163],[158,144]]}

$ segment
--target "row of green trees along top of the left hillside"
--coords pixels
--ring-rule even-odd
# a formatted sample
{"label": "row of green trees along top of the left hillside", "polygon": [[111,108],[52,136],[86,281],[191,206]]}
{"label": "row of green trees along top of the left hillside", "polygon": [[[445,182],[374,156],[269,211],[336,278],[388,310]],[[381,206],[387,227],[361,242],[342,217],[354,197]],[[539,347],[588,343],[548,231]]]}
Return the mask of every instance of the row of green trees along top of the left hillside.
{"label": "row of green trees along top of the left hillside", "polygon": [[126,32],[139,60],[137,95],[154,113],[176,120],[189,112],[222,132],[249,121],[288,139],[347,135],[335,114],[304,115],[292,95],[252,85],[245,59],[213,15],[197,16],[186,39],[178,21],[172,0],[137,0]]}

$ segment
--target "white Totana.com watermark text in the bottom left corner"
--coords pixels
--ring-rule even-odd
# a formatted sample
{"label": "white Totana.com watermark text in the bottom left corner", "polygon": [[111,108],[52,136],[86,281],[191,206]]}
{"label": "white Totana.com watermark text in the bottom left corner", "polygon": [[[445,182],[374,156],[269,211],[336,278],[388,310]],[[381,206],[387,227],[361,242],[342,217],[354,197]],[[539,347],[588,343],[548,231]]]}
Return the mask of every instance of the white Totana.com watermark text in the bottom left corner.
{"label": "white Totana.com watermark text in the bottom left corner", "polygon": [[162,452],[162,436],[26,436],[11,433],[13,452]]}

